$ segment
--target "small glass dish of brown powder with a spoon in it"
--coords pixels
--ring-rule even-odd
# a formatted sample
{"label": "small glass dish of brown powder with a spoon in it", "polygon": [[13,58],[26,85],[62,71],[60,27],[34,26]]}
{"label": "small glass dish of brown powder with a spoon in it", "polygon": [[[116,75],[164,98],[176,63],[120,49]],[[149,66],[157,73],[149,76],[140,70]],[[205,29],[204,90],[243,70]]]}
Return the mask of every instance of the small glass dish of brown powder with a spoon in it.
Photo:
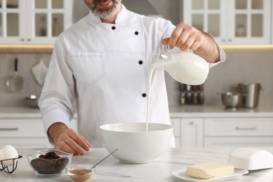
{"label": "small glass dish of brown powder with a spoon in it", "polygon": [[91,168],[92,165],[76,164],[68,165],[65,171],[71,181],[83,182],[89,181],[92,178],[94,169]]}

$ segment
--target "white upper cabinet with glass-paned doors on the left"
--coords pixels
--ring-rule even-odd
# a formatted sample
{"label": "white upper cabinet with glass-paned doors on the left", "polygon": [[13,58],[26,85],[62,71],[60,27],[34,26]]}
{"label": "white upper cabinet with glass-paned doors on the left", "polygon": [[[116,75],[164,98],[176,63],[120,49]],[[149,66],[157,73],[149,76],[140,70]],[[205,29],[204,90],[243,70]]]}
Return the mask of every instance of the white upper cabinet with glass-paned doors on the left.
{"label": "white upper cabinet with glass-paned doors on the left", "polygon": [[0,42],[53,44],[71,14],[72,0],[0,0]]}

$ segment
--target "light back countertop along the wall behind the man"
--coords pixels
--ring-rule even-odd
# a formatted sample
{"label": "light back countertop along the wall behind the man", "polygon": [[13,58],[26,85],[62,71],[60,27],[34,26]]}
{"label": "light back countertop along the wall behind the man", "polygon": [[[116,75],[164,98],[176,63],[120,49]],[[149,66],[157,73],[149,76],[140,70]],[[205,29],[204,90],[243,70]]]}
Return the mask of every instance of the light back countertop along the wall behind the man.
{"label": "light back countertop along the wall behind the man", "polygon": [[[256,109],[225,109],[224,106],[170,106],[171,117],[273,117],[273,106]],[[76,117],[76,114],[75,114]],[[41,118],[39,109],[0,106],[0,118]]]}

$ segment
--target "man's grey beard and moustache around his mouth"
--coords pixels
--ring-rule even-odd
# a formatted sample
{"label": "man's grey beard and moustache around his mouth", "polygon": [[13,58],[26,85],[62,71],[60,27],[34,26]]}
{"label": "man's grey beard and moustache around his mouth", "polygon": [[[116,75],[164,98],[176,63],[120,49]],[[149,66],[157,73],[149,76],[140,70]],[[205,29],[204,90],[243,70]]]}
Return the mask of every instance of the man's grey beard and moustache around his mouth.
{"label": "man's grey beard and moustache around his mouth", "polygon": [[111,18],[118,12],[118,6],[120,5],[121,0],[112,0],[113,6],[110,8],[102,9],[96,7],[97,3],[104,3],[107,1],[109,0],[94,0],[91,4],[85,1],[85,4],[88,8],[90,8],[91,12],[99,18]]}

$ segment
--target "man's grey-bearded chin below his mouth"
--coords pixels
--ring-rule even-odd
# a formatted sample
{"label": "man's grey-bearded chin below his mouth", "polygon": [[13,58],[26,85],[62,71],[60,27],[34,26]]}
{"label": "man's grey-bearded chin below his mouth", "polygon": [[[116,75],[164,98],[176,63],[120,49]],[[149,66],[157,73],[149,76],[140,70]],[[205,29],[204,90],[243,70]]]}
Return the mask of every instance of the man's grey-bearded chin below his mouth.
{"label": "man's grey-bearded chin below his mouth", "polygon": [[113,5],[108,8],[98,8],[95,4],[93,4],[93,6],[90,7],[90,10],[99,18],[111,18],[118,12],[120,2],[121,0],[113,0]]}

